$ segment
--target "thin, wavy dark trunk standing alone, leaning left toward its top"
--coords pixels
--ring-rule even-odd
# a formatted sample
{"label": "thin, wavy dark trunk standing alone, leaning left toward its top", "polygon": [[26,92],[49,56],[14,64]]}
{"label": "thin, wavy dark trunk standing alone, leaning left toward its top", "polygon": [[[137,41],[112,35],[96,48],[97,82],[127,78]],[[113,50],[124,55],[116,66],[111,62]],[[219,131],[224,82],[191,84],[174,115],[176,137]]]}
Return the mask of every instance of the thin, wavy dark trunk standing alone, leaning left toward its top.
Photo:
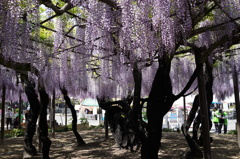
{"label": "thin, wavy dark trunk standing alone, leaning left toward its top", "polygon": [[72,118],[73,118],[73,120],[72,120],[72,131],[73,131],[73,133],[74,133],[74,135],[75,135],[75,137],[77,139],[77,143],[78,143],[77,146],[86,145],[86,143],[82,139],[81,135],[77,131],[77,113],[76,113],[76,110],[75,110],[74,106],[71,103],[70,98],[67,95],[67,90],[61,89],[61,91],[62,91],[62,93],[64,95],[64,99],[65,99],[66,105],[70,108],[70,110],[72,112]]}

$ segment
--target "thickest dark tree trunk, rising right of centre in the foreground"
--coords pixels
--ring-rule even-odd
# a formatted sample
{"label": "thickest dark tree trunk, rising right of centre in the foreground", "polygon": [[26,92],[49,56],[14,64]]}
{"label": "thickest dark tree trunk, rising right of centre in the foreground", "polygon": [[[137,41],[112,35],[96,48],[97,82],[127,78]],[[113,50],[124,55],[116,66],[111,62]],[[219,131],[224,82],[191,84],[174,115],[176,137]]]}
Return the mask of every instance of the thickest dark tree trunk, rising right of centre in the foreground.
{"label": "thickest dark tree trunk, rising right of centre in the foreground", "polygon": [[161,146],[162,122],[164,115],[171,109],[175,96],[172,94],[170,80],[170,59],[159,59],[159,68],[155,75],[147,105],[148,150],[143,150],[142,158],[157,159]]}

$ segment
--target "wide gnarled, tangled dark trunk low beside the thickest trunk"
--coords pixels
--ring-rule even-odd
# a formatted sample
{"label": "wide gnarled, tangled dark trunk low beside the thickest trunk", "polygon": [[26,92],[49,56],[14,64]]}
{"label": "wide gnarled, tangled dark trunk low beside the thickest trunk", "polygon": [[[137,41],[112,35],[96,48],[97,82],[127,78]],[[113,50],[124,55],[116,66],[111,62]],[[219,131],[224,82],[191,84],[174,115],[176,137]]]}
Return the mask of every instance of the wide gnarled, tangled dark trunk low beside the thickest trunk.
{"label": "wide gnarled, tangled dark trunk low beside the thickest trunk", "polygon": [[[106,101],[105,98],[97,99],[99,106],[106,110],[105,118],[108,120],[117,146],[130,149],[131,151],[138,150],[140,148],[140,140],[143,143],[142,135],[144,133],[139,128],[139,114],[137,114],[137,121],[134,121],[133,113],[135,111],[133,112],[130,107],[132,98],[129,96],[120,101]],[[142,106],[139,104],[139,107]],[[145,142],[146,140],[145,136]]]}

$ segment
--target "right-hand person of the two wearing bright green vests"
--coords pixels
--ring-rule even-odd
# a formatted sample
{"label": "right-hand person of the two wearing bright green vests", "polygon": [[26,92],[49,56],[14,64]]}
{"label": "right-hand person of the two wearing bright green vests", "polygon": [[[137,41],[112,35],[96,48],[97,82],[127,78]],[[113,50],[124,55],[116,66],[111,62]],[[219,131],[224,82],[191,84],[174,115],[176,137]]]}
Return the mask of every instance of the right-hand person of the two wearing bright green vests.
{"label": "right-hand person of the two wearing bright green vests", "polygon": [[224,112],[222,109],[219,109],[218,113],[217,113],[217,117],[218,117],[218,134],[221,134],[222,132],[222,126],[223,130],[224,130],[224,134],[227,133],[227,125],[228,125],[228,118],[227,118],[227,113]]}

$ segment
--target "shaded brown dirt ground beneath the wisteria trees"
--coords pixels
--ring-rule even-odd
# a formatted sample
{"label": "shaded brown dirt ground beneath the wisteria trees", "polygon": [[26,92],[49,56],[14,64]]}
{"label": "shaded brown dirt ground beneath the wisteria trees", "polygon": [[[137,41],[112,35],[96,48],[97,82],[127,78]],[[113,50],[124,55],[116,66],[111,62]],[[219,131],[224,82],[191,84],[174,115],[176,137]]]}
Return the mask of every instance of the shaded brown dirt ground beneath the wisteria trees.
{"label": "shaded brown dirt ground beneath the wisteria trees", "polygon": [[[86,146],[76,147],[76,140],[71,131],[57,132],[51,138],[52,146],[50,157],[54,159],[138,159],[139,152],[131,153],[129,150],[119,149],[115,146],[109,133],[105,140],[104,130],[84,130],[79,132]],[[239,159],[239,148],[236,135],[211,134],[214,141],[211,144],[212,159]],[[51,133],[49,134],[51,137]],[[37,147],[37,143],[34,145]],[[160,159],[182,159],[187,151],[184,136],[177,132],[163,132],[162,148],[159,152]],[[0,158],[23,158],[23,137],[6,138],[4,145],[0,145]],[[35,157],[41,158],[41,153]]]}

